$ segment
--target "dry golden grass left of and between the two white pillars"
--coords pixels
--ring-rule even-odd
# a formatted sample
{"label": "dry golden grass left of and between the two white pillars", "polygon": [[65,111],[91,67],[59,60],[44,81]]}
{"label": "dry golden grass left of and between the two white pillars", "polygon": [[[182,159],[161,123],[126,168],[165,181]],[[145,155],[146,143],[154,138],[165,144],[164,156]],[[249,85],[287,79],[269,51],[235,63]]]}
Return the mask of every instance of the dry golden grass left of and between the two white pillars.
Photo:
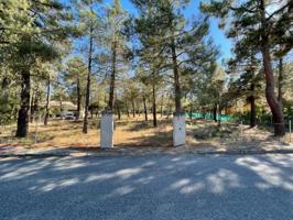
{"label": "dry golden grass left of and between the two white pillars", "polygon": [[[134,119],[123,117],[116,120],[116,146],[171,146],[171,120],[159,120],[159,127],[144,122],[142,117]],[[30,124],[29,136],[14,138],[15,125],[0,129],[0,143],[24,147],[97,147],[100,144],[99,120],[89,121],[88,134],[82,132],[83,122],[52,120],[47,127],[37,124],[35,143],[35,123]]]}

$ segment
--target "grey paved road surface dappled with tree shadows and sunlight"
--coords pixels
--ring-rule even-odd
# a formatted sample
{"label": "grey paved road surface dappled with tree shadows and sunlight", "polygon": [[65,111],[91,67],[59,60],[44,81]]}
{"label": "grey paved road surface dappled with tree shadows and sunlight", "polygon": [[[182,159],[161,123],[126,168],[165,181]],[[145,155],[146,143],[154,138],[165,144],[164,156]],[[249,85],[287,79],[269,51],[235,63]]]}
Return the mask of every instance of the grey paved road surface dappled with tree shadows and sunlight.
{"label": "grey paved road surface dappled with tree shadows and sunlight", "polygon": [[293,154],[0,160],[0,219],[292,220]]}

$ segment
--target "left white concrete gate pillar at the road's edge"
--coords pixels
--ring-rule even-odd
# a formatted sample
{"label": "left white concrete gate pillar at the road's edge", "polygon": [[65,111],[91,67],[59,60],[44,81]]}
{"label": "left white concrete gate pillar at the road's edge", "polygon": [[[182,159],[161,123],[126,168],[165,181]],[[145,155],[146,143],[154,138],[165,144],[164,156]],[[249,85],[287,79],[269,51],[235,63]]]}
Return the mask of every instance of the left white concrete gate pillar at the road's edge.
{"label": "left white concrete gate pillar at the road's edge", "polygon": [[100,120],[100,147],[113,147],[113,114],[104,112]]}

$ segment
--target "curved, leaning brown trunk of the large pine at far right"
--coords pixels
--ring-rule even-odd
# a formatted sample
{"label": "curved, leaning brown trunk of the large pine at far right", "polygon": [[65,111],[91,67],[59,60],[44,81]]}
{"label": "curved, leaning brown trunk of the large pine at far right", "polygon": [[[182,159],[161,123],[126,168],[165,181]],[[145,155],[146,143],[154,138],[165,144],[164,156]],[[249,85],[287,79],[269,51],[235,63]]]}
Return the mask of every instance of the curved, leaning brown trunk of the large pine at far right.
{"label": "curved, leaning brown trunk of the large pine at far right", "polygon": [[285,135],[285,124],[284,124],[282,108],[274,92],[274,76],[273,76],[272,59],[269,46],[269,36],[267,33],[268,24],[265,18],[264,0],[261,0],[261,23],[263,30],[261,33],[261,53],[262,53],[264,75],[265,75],[265,97],[271,108],[271,112],[273,114],[274,134],[276,136],[283,136]]}

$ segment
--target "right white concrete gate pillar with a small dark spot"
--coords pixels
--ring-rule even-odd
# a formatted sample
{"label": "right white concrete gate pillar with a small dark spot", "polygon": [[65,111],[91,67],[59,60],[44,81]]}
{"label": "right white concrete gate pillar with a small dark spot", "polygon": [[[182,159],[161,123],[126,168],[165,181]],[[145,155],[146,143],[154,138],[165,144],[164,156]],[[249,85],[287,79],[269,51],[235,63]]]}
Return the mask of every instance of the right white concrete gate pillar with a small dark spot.
{"label": "right white concrete gate pillar with a small dark spot", "polygon": [[186,143],[186,123],[184,113],[173,114],[173,145],[180,146]]}

